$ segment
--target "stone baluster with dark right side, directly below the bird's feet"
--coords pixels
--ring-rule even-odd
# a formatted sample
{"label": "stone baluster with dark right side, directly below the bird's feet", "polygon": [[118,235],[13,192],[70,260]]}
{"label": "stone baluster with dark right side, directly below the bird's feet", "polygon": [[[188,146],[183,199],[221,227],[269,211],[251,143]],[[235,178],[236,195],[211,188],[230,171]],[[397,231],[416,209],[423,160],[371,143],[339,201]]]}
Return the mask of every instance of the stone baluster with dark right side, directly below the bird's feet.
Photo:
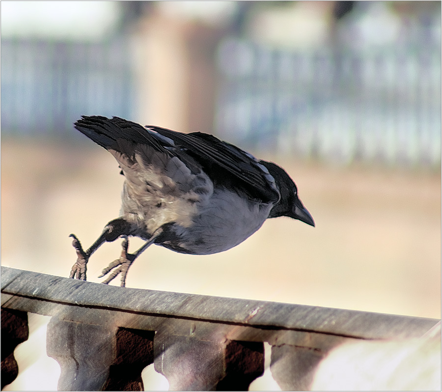
{"label": "stone baluster with dark right side, directly below the bird's feet", "polygon": [[47,335],[47,353],[61,367],[59,391],[143,391],[154,332],[53,317]]}

